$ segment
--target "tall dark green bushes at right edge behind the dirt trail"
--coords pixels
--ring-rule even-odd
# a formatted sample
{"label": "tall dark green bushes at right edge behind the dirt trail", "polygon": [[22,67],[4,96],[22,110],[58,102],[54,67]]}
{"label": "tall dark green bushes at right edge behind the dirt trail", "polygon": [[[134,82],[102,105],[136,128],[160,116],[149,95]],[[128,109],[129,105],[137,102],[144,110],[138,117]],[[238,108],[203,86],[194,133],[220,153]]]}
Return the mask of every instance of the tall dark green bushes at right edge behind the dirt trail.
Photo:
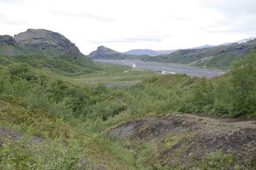
{"label": "tall dark green bushes at right edge behind the dirt trail", "polygon": [[256,55],[252,51],[245,60],[234,64],[231,69],[233,85],[233,115],[255,113],[256,111]]}

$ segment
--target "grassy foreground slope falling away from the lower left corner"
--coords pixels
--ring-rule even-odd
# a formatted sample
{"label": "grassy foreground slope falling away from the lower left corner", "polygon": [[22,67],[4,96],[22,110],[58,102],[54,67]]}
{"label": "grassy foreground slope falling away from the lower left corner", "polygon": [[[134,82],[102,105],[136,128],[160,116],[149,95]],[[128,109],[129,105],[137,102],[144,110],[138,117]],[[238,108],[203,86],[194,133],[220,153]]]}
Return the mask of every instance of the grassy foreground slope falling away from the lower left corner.
{"label": "grassy foreground slope falling away from the lower left corner", "polygon": [[1,169],[129,169],[90,134],[16,100],[0,96]]}

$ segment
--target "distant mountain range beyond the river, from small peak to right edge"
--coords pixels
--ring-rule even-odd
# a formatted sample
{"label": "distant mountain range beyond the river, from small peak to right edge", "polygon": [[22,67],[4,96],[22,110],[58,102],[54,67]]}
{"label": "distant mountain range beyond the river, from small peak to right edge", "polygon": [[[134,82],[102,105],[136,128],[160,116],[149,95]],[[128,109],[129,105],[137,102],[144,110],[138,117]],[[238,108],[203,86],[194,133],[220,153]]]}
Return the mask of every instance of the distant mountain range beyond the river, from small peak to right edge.
{"label": "distant mountain range beyond the river, from small peak to right edge", "polygon": [[[234,43],[211,46],[204,45],[186,50],[176,50],[168,55],[127,55],[111,50],[107,47],[98,47],[87,57],[91,59],[112,59],[112,60],[142,60],[150,62],[172,62],[189,64],[197,67],[208,67],[218,69],[229,69],[234,61],[249,55],[250,50],[256,50],[256,39],[247,38]],[[154,53],[154,50],[130,50],[129,54],[142,54],[143,52]],[[127,53],[127,52],[126,52]]]}

